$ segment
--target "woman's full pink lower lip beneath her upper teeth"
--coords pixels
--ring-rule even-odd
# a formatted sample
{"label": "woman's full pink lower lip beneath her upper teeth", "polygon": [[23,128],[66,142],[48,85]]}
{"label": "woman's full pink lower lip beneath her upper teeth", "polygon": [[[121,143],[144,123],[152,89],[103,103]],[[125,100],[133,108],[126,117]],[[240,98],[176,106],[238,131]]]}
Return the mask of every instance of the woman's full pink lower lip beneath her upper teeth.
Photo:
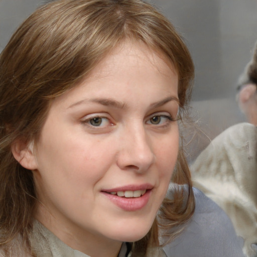
{"label": "woman's full pink lower lip beneath her upper teeth", "polygon": [[106,192],[102,192],[105,196],[107,196],[110,201],[112,201],[115,205],[125,211],[137,211],[143,209],[147,203],[149,202],[149,198],[152,190],[147,190],[146,193],[140,197],[119,197],[117,195],[111,195]]}

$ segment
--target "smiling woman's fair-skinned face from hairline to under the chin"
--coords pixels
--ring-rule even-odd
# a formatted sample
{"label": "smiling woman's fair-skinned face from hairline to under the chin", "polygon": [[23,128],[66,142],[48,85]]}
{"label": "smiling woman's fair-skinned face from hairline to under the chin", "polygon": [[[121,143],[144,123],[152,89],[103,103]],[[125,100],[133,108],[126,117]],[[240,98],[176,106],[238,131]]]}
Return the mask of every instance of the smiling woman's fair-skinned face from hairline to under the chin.
{"label": "smiling woman's fair-skinned face from hairline to under the chin", "polygon": [[57,97],[34,153],[37,219],[73,248],[147,234],[177,160],[177,91],[172,64],[127,42]]}

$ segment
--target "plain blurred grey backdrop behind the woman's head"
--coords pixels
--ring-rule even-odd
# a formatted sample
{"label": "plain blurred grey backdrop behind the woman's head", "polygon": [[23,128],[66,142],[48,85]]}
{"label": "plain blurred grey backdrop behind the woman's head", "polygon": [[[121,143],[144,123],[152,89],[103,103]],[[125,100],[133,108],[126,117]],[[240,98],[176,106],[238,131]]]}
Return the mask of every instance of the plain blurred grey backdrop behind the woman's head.
{"label": "plain blurred grey backdrop behind the woman's head", "polygon": [[[42,0],[0,0],[0,52]],[[151,0],[189,47],[196,68],[192,114],[201,135],[190,160],[230,125],[245,121],[236,101],[238,76],[257,40],[256,0]]]}

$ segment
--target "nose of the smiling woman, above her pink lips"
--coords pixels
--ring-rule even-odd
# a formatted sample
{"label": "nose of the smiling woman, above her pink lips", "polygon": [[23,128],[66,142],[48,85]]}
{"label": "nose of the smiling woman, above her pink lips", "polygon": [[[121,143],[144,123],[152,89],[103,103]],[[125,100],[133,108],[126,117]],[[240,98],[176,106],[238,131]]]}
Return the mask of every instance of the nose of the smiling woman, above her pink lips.
{"label": "nose of the smiling woman, above her pink lips", "polygon": [[144,173],[154,163],[155,155],[144,126],[133,126],[122,133],[117,165],[121,170]]}

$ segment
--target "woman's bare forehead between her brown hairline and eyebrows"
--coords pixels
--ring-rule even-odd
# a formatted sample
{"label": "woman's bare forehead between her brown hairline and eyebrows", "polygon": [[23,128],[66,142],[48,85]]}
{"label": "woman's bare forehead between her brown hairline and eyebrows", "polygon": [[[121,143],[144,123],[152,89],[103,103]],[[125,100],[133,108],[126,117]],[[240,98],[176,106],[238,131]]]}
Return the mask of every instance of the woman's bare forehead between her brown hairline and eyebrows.
{"label": "woman's bare forehead between her brown hairline and eyebrows", "polygon": [[177,71],[168,58],[143,43],[124,42],[106,54],[80,83],[57,97],[55,102],[67,98],[75,102],[88,97],[127,101],[129,95],[135,94],[156,101],[153,98],[157,94],[177,98],[177,91]]}

